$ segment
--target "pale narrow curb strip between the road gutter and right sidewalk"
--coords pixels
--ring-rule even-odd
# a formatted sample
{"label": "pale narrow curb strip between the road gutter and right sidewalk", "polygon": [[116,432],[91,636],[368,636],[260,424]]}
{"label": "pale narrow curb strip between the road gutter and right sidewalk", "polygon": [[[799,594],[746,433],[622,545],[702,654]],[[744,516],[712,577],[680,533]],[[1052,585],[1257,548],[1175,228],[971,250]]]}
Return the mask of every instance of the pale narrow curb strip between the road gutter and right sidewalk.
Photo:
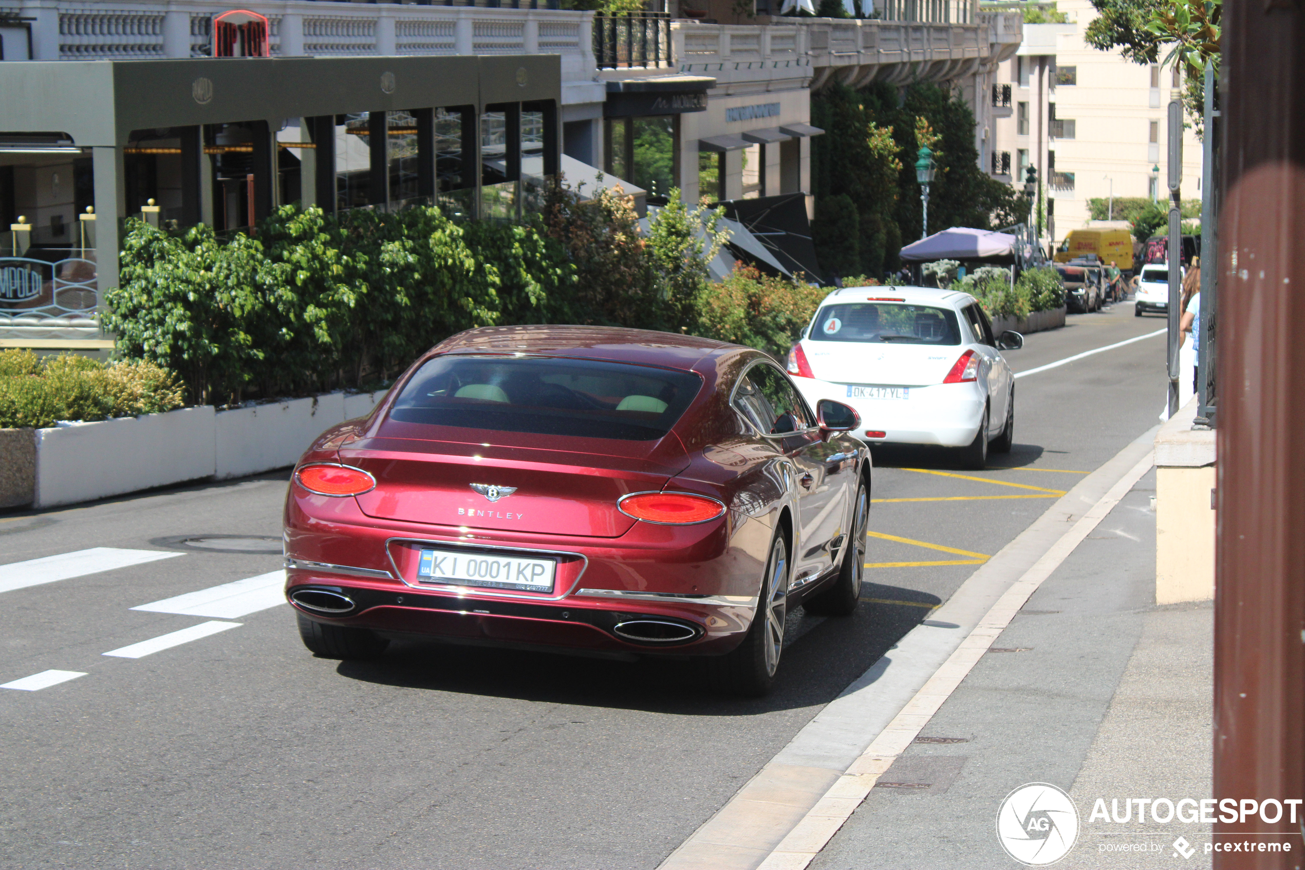
{"label": "pale narrow curb strip between the road gutter and right sidewalk", "polygon": [[1155,454],[1148,453],[997,599],[947,661],[920,687],[887,728],[870,741],[865,751],[825,792],[825,797],[758,865],[758,870],[804,870],[812,862],[870,793],[880,775],[889,770],[898,755],[911,746],[916,734],[929,724],[933,715],[951,697],[992,642],[1006,630],[1043,580],[1069,558],[1152,464]]}

